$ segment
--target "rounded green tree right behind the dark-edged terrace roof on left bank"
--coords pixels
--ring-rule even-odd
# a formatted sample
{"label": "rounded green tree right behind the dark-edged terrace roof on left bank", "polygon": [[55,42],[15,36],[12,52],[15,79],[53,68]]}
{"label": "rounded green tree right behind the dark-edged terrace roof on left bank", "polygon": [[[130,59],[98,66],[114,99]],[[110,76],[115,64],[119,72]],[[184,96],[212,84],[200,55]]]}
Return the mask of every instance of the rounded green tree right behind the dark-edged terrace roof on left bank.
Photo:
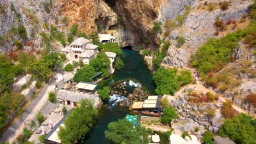
{"label": "rounded green tree right behind the dark-edged terrace roof on left bank", "polygon": [[94,68],[91,65],[85,65],[82,69],[79,69],[74,75],[74,81],[87,81],[92,82],[92,78],[95,75]]}

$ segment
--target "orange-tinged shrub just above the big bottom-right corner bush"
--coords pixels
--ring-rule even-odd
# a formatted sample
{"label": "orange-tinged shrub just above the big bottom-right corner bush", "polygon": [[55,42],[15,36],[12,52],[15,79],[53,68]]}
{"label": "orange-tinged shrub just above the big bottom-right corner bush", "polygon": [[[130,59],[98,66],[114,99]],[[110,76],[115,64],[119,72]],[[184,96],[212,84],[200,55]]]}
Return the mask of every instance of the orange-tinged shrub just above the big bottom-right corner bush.
{"label": "orange-tinged shrub just above the big bottom-right corner bush", "polygon": [[226,102],[223,103],[223,107],[221,110],[223,117],[231,118],[236,115],[236,110],[232,108],[232,105],[233,103],[230,100],[227,100]]}

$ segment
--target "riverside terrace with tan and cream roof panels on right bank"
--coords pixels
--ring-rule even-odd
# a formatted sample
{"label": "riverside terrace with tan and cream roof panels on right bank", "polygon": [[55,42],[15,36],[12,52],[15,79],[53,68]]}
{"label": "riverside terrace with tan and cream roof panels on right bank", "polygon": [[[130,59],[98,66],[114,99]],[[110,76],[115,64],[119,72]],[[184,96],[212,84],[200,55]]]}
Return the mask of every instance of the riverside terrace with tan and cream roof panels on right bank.
{"label": "riverside terrace with tan and cream roof panels on right bank", "polygon": [[162,95],[149,95],[145,101],[133,103],[131,109],[133,112],[143,115],[160,116],[162,111],[161,98]]}

